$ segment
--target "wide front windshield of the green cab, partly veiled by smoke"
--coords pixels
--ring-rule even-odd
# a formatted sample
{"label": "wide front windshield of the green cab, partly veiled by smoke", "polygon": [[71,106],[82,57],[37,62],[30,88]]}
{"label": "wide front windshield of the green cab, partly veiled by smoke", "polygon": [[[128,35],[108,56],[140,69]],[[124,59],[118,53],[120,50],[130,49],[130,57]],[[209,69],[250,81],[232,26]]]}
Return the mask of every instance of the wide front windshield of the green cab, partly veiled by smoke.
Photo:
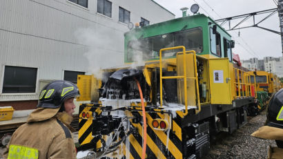
{"label": "wide front windshield of the green cab, partly veiled by smoke", "polygon": [[[158,59],[160,49],[174,46],[185,46],[186,50],[195,50],[196,53],[202,53],[202,28],[131,40],[128,42],[127,59],[128,62],[141,59],[144,61]],[[162,52],[162,57],[175,57],[179,51],[182,51],[182,49],[166,50]]]}

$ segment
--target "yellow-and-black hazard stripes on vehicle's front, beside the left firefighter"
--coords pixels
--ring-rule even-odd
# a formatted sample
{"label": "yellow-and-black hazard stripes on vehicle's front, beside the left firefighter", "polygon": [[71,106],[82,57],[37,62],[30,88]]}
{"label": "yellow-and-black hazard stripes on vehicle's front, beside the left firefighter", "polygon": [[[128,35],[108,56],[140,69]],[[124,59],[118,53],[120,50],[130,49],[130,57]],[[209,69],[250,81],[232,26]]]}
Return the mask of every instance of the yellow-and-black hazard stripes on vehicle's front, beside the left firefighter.
{"label": "yellow-and-black hazard stripes on vehicle's front, beside the left firefighter", "polygon": [[100,109],[91,104],[82,104],[79,106],[79,144],[81,150],[84,149],[95,149],[97,147],[97,138],[92,137],[92,117],[83,118],[82,113],[86,112],[97,112],[101,113]]}

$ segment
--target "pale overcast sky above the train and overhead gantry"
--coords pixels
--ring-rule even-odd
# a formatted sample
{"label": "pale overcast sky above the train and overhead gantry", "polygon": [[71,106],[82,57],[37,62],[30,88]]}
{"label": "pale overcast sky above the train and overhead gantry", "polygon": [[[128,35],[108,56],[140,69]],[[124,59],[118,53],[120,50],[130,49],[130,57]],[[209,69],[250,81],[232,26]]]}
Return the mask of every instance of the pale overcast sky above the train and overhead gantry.
{"label": "pale overcast sky above the train and overhead gantry", "polygon": [[[261,10],[268,10],[277,8],[274,1],[277,0],[154,0],[161,6],[173,12],[175,17],[182,17],[182,11],[180,8],[191,8],[194,3],[199,4],[199,13],[211,17],[212,19],[222,19],[226,17],[233,17],[237,15],[243,15],[250,12],[258,12]],[[193,13],[188,10],[189,15]],[[269,14],[269,13],[268,13]],[[255,22],[260,21],[268,14],[258,15],[255,17]],[[242,26],[252,24],[252,18],[244,22]],[[231,21],[231,24],[237,23],[237,21]],[[228,24],[228,23],[226,23]],[[276,30],[280,32],[280,23],[278,13],[263,21],[259,26]],[[224,25],[224,28],[228,28],[228,25]],[[240,37],[239,37],[240,32]],[[257,57],[263,59],[263,57],[281,57],[282,56],[282,43],[280,35],[273,32],[262,30],[260,28],[244,28],[233,31],[228,31],[232,35],[232,39],[235,40],[235,48],[233,53],[240,55],[240,59],[249,59]]]}

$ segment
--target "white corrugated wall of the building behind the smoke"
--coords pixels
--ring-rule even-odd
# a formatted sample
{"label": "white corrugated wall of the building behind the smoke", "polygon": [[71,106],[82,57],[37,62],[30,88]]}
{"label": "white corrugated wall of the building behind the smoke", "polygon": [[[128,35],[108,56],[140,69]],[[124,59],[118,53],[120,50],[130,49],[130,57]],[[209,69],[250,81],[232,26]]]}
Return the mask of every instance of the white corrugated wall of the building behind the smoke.
{"label": "white corrugated wall of the building behind the smoke", "polygon": [[[97,13],[96,0],[88,0],[88,8],[68,0],[0,1],[0,101],[37,100],[38,81],[63,79],[64,71],[90,73],[90,66],[123,64],[128,28],[119,22],[119,6],[130,11],[133,23],[175,17],[151,0],[110,1],[110,18]],[[38,68],[37,92],[2,93],[6,65]]]}

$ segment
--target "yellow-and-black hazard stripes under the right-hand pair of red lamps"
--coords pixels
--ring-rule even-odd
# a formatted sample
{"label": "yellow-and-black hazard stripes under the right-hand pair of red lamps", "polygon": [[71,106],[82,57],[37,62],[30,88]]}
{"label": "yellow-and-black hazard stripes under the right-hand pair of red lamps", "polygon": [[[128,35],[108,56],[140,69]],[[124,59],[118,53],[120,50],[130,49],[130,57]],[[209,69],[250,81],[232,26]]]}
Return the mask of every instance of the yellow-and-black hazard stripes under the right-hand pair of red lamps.
{"label": "yellow-and-black hazard stripes under the right-hand pair of red lamps", "polygon": [[[147,158],[182,158],[182,129],[177,125],[173,124],[173,127],[179,127],[173,130],[161,131],[153,129],[152,121],[155,118],[164,118],[160,113],[146,113],[147,118],[147,145],[146,145],[146,155]],[[135,114],[137,115],[137,114]],[[139,118],[142,118],[141,113],[138,114]],[[130,154],[133,158],[142,157],[142,124],[131,122],[133,127],[137,128],[139,131],[138,135],[130,135]],[[174,129],[174,128],[173,128]],[[181,135],[179,135],[181,134]],[[168,136],[169,135],[169,136]]]}

